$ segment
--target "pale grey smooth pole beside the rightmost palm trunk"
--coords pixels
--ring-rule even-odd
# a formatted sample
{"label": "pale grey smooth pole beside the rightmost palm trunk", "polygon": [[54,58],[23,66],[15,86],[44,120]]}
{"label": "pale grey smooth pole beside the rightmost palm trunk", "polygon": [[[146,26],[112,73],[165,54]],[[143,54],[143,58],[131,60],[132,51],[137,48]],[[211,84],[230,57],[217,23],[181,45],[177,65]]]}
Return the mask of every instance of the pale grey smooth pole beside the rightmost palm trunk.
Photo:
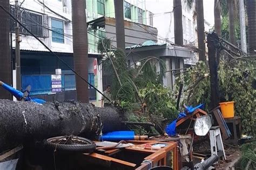
{"label": "pale grey smooth pole beside the rightmost palm trunk", "polygon": [[241,49],[242,52],[247,53],[244,0],[239,0],[239,14],[241,31]]}

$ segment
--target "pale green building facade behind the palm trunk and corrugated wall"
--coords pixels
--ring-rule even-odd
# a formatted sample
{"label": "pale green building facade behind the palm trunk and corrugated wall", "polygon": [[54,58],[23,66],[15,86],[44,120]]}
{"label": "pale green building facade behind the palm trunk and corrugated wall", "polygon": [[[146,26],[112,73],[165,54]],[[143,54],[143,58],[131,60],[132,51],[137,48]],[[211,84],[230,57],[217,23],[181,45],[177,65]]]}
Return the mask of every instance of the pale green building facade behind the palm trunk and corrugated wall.
{"label": "pale green building facade behind the palm trunk and corrugated wall", "polygon": [[[100,17],[114,18],[114,0],[86,0],[86,15],[87,22],[91,22]],[[153,13],[146,9],[145,0],[125,0],[124,1],[124,19],[127,23],[137,23],[139,25],[153,25]],[[114,21],[115,22],[115,21]],[[110,23],[110,22],[109,22]],[[112,28],[110,26],[112,25]],[[88,28],[88,43],[89,52],[97,52],[97,43],[100,38],[113,38],[113,42],[116,42],[115,27],[113,24],[107,24],[109,28],[104,28],[103,26],[96,26],[96,28]],[[127,25],[125,25],[127,26]],[[127,28],[127,27],[126,27]],[[148,28],[145,28],[148,29]],[[144,30],[144,32],[146,32]],[[130,46],[134,37],[133,32],[125,30],[126,35],[126,46]],[[146,37],[143,35],[142,37]],[[148,37],[147,39],[152,39]],[[145,39],[145,40],[147,40]],[[140,42],[143,43],[143,42]]]}

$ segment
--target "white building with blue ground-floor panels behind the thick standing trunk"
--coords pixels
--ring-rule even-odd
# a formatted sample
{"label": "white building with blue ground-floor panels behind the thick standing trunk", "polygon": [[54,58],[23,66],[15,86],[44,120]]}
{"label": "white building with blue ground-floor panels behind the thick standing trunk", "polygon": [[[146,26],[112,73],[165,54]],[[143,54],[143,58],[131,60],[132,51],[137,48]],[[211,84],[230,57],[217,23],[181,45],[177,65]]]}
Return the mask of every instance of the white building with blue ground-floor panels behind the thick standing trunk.
{"label": "white building with blue ground-floor panels behind the thick standing trunk", "polygon": [[[19,1],[19,20],[34,35],[46,44],[61,59],[73,68],[72,47],[72,6],[71,0],[26,0]],[[14,9],[15,1],[10,1],[11,12],[17,15]],[[15,23],[11,22],[12,49],[15,49]],[[75,74],[65,64],[21,27],[21,74],[22,89],[31,85],[30,94],[48,101],[76,99]],[[12,50],[15,70],[15,50]],[[92,85],[102,91],[101,71],[98,66],[97,76],[93,71],[93,62],[100,58],[98,53],[89,53],[88,78]],[[51,75],[56,69],[62,69],[62,92],[55,93],[51,89]],[[16,76],[14,71],[14,82]],[[14,83],[15,86],[15,83]],[[89,88],[90,100],[96,100],[97,94]]]}

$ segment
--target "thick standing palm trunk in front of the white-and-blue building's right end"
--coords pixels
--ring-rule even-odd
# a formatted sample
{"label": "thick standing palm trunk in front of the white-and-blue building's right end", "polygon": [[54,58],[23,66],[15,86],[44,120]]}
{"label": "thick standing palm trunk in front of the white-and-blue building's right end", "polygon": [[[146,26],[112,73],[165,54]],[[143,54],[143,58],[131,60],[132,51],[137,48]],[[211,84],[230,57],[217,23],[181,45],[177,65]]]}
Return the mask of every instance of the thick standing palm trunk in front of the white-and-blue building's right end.
{"label": "thick standing palm trunk in front of the white-and-blue building's right end", "polygon": [[[88,80],[88,40],[85,15],[85,0],[72,0],[73,55],[75,71]],[[89,102],[88,85],[76,76],[77,100]]]}

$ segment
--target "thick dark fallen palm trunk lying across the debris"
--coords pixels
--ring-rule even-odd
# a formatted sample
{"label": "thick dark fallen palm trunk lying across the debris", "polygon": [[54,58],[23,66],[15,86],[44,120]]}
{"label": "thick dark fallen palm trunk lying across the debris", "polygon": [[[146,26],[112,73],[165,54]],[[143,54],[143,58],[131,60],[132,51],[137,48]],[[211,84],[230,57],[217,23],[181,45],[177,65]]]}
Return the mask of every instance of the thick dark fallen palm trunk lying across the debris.
{"label": "thick dark fallen palm trunk lying across the debris", "polygon": [[45,103],[0,100],[0,152],[27,140],[58,135],[97,138],[102,132],[124,129],[125,113],[74,102]]}

